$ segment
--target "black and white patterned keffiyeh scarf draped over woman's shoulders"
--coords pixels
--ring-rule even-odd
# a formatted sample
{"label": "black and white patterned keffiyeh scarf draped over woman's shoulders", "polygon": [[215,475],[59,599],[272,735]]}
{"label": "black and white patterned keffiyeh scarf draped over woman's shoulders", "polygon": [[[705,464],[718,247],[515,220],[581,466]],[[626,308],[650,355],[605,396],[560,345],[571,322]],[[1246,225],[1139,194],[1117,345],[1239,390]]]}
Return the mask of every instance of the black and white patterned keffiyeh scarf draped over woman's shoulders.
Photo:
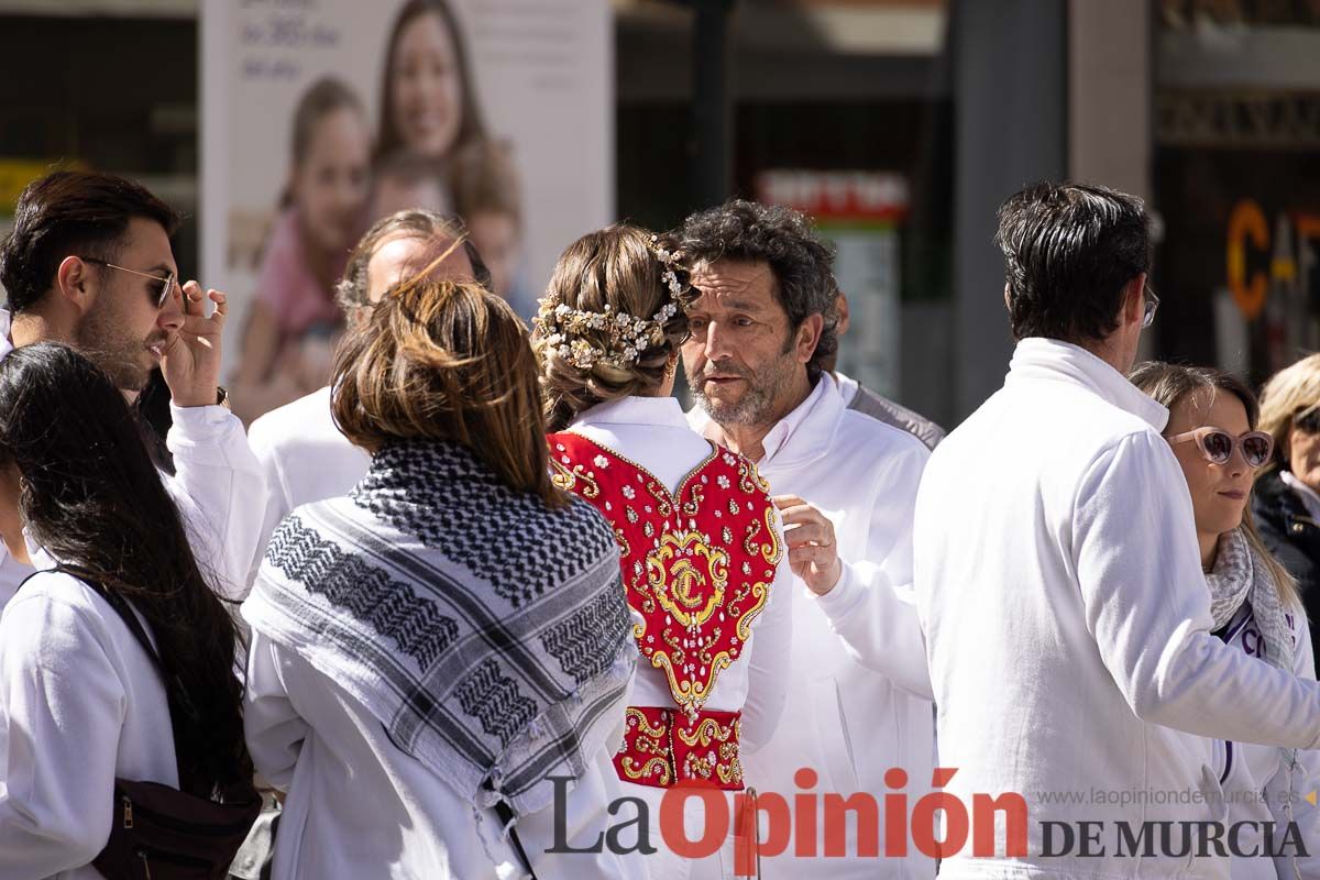
{"label": "black and white patterned keffiyeh scarf draped over woman's shoulders", "polygon": [[294,511],[243,615],[474,806],[515,815],[614,747],[638,653],[605,520],[440,442],[387,447],[351,495]]}

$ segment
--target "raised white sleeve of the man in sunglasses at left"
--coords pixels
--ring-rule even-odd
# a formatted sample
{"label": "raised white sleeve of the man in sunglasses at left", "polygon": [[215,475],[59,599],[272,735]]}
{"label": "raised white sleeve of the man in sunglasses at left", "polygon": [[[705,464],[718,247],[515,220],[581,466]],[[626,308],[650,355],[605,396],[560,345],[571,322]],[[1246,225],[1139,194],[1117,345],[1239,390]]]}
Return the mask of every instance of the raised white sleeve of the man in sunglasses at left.
{"label": "raised white sleeve of the man in sunglasses at left", "polygon": [[223,406],[176,406],[166,445],[174,475],[162,476],[189,524],[189,538],[218,591],[247,595],[248,573],[260,540],[265,478],[252,455],[243,422]]}

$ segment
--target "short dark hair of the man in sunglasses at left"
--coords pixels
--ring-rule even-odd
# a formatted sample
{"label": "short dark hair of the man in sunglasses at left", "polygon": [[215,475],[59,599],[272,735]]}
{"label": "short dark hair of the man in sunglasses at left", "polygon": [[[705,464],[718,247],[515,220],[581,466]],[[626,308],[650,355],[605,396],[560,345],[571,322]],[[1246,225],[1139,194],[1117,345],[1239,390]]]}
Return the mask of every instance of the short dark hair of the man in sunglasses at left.
{"label": "short dark hair of the man in sunglasses at left", "polygon": [[0,247],[0,284],[11,311],[25,311],[50,289],[69,256],[114,263],[128,222],[144,218],[174,235],[174,208],[125,177],[55,172],[33,181],[18,197],[13,231]]}

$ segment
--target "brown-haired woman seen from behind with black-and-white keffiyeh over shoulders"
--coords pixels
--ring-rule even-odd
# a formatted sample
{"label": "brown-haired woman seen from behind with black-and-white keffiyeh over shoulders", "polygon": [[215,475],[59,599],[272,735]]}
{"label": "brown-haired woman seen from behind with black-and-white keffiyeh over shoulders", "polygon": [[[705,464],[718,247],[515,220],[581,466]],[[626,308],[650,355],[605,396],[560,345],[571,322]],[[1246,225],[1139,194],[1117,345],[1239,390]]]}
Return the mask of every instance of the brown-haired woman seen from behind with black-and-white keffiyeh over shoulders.
{"label": "brown-haired woman seen from behind with black-and-white keffiyeh over shoulders", "polygon": [[635,656],[610,532],[550,483],[524,334],[422,270],[341,347],[335,422],[371,467],[284,521],[243,606],[279,880],[636,876],[546,854],[610,823]]}

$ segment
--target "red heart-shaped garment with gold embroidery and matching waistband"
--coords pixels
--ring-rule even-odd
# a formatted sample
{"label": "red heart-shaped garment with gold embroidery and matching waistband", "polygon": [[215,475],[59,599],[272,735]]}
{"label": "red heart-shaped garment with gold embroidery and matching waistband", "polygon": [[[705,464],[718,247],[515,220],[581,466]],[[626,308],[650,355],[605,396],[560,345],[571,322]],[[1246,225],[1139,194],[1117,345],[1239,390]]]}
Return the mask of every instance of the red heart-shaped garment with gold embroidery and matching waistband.
{"label": "red heart-shaped garment with gold embroidery and matching waistband", "polygon": [[640,464],[579,434],[550,434],[554,483],[614,526],[632,635],[665,673],[673,707],[628,710],[620,778],[669,786],[704,778],[742,788],[739,712],[705,711],[770,599],[783,548],[770,487],[747,459],[711,445],[675,493]]}

